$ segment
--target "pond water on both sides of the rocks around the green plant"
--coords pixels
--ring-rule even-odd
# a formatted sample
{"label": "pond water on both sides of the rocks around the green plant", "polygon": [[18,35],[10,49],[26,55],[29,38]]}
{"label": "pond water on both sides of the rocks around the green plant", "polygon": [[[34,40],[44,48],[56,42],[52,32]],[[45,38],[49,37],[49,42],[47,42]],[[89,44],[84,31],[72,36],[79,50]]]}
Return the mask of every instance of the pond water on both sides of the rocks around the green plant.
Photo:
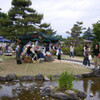
{"label": "pond water on both sides of the rocks around the green plant", "polygon": [[[100,100],[100,78],[74,82],[74,88],[87,93],[86,100]],[[93,97],[90,97],[90,94]],[[39,88],[29,82],[0,82],[0,100],[58,100],[41,97]]]}

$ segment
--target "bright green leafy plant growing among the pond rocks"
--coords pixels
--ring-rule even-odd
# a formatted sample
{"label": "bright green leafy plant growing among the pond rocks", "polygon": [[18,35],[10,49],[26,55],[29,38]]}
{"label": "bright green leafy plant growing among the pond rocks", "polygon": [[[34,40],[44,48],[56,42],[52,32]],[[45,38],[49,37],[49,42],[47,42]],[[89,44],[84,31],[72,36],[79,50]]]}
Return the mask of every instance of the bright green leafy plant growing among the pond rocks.
{"label": "bright green leafy plant growing among the pond rocks", "polygon": [[59,88],[61,89],[72,89],[73,87],[73,75],[63,72],[58,79]]}

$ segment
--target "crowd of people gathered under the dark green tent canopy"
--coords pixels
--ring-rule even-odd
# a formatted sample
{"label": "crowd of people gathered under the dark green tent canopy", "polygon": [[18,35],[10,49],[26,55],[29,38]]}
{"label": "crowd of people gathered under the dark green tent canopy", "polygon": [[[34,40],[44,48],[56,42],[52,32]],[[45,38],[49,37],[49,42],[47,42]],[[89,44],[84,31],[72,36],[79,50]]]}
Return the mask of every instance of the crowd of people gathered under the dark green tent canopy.
{"label": "crowd of people gathered under the dark green tent canopy", "polygon": [[[58,55],[58,60],[61,60],[61,54],[62,54],[62,50],[61,50],[62,46],[60,41],[58,41],[57,43],[54,44],[39,44],[38,41],[36,42],[29,42],[27,43],[21,52],[21,58],[22,60],[25,59],[25,57],[30,56],[32,58],[33,61],[37,61],[37,60],[47,60],[47,61],[53,61],[53,58],[51,56],[50,51],[56,51],[56,54]],[[20,46],[17,45],[16,46],[16,52],[18,52],[20,49]]]}

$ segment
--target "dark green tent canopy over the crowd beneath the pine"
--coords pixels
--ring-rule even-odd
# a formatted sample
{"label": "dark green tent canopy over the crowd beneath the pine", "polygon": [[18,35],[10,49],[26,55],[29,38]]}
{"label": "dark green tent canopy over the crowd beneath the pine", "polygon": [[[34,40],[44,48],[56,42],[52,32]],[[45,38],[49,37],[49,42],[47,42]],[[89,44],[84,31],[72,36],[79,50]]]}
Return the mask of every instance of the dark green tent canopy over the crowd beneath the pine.
{"label": "dark green tent canopy over the crowd beneath the pine", "polygon": [[29,41],[32,42],[39,41],[42,43],[49,43],[49,42],[55,43],[58,42],[58,40],[60,40],[56,36],[49,36],[44,33],[31,33],[24,36],[18,36],[17,39],[21,40],[23,45],[27,44]]}

